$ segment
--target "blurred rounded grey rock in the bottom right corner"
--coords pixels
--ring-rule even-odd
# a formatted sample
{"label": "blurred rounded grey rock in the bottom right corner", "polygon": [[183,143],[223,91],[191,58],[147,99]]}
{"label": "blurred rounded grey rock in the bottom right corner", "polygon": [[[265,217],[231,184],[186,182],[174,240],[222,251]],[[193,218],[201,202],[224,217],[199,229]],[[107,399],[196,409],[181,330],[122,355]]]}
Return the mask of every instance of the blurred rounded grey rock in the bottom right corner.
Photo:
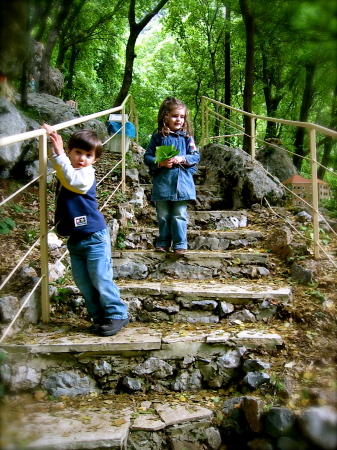
{"label": "blurred rounded grey rock in the bottom right corner", "polygon": [[337,412],[330,406],[312,407],[298,418],[304,436],[324,450],[337,448]]}

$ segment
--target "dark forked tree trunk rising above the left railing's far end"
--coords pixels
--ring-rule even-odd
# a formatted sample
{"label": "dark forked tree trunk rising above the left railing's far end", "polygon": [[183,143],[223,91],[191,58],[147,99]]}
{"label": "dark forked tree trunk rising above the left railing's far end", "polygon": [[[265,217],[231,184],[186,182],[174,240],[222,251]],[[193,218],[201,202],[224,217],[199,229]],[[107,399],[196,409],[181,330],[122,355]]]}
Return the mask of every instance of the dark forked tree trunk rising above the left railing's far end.
{"label": "dark forked tree trunk rising above the left railing's far end", "polygon": [[166,5],[169,0],[160,0],[157,6],[147,14],[140,22],[136,23],[136,0],[130,0],[129,25],[130,35],[126,45],[125,68],[122,86],[114,102],[114,107],[123,103],[129,93],[132,84],[133,62],[136,58],[135,45],[140,32],[146,27],[150,20]]}

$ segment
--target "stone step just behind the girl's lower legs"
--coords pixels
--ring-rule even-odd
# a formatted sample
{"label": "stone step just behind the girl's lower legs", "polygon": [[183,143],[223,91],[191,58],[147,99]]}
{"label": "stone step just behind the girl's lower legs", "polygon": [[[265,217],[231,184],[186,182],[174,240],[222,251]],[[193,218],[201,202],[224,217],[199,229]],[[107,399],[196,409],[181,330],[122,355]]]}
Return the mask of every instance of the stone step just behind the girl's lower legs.
{"label": "stone step just behind the girl's lower legs", "polygon": [[[158,228],[134,228],[125,233],[125,249],[151,249],[155,247],[158,238]],[[244,247],[254,247],[264,238],[260,231],[187,231],[187,241],[190,250],[223,251]]]}

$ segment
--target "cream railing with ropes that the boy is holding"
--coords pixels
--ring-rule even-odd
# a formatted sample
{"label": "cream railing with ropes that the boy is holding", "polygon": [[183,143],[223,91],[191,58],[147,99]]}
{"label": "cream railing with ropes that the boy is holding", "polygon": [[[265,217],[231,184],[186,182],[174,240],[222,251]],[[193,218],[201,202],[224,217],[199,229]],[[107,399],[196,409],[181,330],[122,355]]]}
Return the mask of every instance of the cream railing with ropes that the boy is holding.
{"label": "cream railing with ropes that the boy is holding", "polygon": [[[107,201],[104,203],[104,205],[100,208],[100,210],[104,209],[104,207],[109,203],[113,195],[117,192],[119,188],[121,188],[122,192],[125,192],[125,169],[126,169],[126,138],[125,138],[125,129],[126,129],[126,105],[129,102],[129,116],[132,117],[135,121],[135,128],[136,128],[136,139],[138,142],[138,115],[137,111],[135,109],[134,102],[132,100],[132,97],[129,95],[126,97],[124,102],[114,108],[110,108],[108,110],[104,110],[98,113],[90,114],[88,116],[83,116],[80,118],[72,119],[67,122],[62,122],[56,125],[53,125],[53,127],[56,129],[56,131],[62,130],[64,128],[68,128],[74,125],[79,125],[84,122],[88,122],[89,120],[97,119],[102,116],[106,116],[112,113],[121,112],[122,113],[122,123],[121,123],[121,158],[117,162],[117,164],[109,170],[107,174],[105,174],[101,180],[97,184],[100,184],[103,182],[103,180],[109,176],[109,174],[119,165],[121,165],[121,181],[117,185],[117,187],[113,190],[113,193],[109,196]],[[109,136],[107,140],[103,142],[103,145],[107,144],[111,139],[113,139],[116,136],[117,133],[113,134],[112,136]],[[12,279],[15,272],[21,267],[23,262],[27,259],[27,257],[31,254],[31,252],[36,248],[37,244],[40,243],[40,261],[41,261],[41,277],[39,278],[38,284],[34,286],[33,290],[29,293],[29,297],[32,295],[32,293],[37,289],[37,286],[41,286],[41,306],[42,306],[42,321],[48,322],[49,321],[49,279],[48,279],[48,243],[47,243],[47,235],[49,232],[51,232],[54,227],[48,230],[47,227],[47,175],[49,176],[52,172],[47,174],[47,135],[45,129],[38,129],[33,130],[25,133],[21,133],[14,136],[5,136],[0,138],[0,147],[5,145],[11,145],[17,142],[23,142],[28,139],[32,138],[39,138],[39,176],[31,180],[29,183],[25,184],[24,186],[20,187],[17,191],[15,191],[13,194],[5,198],[1,203],[0,206],[5,205],[7,202],[9,202],[11,199],[13,199],[16,195],[18,195],[20,192],[23,192],[26,190],[29,186],[39,182],[39,216],[40,216],[40,235],[39,238],[33,243],[33,245],[28,249],[28,251],[20,258],[19,262],[15,265],[15,267],[10,271],[10,273],[2,280],[0,290],[2,290],[5,285]],[[61,261],[67,254],[67,251],[64,252],[64,254],[55,262],[55,265]],[[25,304],[28,300],[25,301]],[[1,341],[3,340],[4,336],[8,334],[9,330],[12,328],[13,324],[19,317],[22,309],[24,308],[24,305],[21,306],[18,313],[15,315],[12,322],[8,325],[6,328],[5,334],[2,336]]]}

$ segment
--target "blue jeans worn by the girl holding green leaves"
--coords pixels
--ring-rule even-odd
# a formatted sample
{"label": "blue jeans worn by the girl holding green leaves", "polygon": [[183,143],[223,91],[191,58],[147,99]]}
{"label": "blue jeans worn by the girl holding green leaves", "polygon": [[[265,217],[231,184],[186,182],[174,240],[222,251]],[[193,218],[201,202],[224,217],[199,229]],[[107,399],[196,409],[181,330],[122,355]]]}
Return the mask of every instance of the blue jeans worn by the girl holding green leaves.
{"label": "blue jeans worn by the girl holding green leaves", "polygon": [[156,202],[159,238],[157,247],[187,249],[187,200]]}

